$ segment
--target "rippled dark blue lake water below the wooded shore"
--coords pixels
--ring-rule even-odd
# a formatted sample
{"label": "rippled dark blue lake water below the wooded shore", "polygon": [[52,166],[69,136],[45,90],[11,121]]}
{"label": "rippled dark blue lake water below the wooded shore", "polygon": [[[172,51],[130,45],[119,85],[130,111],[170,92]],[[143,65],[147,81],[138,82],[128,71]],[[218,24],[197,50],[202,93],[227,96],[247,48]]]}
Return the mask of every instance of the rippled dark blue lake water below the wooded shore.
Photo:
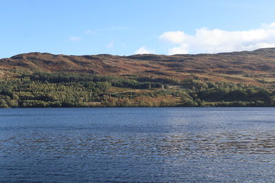
{"label": "rippled dark blue lake water below the wooded shore", "polygon": [[0,109],[0,182],[275,182],[275,108]]}

